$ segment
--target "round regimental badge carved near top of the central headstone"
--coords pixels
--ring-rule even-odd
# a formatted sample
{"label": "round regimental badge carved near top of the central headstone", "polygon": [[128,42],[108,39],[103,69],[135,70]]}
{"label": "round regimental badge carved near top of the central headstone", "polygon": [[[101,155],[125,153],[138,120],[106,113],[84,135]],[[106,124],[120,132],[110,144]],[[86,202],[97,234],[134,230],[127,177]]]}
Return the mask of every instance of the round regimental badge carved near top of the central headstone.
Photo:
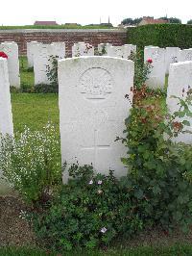
{"label": "round regimental badge carved near top of the central headstone", "polygon": [[80,91],[86,99],[106,99],[112,92],[110,73],[100,67],[87,69],[80,78]]}

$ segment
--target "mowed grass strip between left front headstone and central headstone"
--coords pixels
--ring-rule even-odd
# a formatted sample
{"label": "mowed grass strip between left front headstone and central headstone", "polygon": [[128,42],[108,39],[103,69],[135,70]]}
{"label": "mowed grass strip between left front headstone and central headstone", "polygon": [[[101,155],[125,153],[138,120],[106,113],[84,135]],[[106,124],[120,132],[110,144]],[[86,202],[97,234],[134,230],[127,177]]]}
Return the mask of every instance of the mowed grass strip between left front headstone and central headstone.
{"label": "mowed grass strip between left front headstone and central headstone", "polygon": [[21,133],[25,126],[41,130],[51,121],[59,133],[58,94],[12,93],[12,116],[14,132]]}

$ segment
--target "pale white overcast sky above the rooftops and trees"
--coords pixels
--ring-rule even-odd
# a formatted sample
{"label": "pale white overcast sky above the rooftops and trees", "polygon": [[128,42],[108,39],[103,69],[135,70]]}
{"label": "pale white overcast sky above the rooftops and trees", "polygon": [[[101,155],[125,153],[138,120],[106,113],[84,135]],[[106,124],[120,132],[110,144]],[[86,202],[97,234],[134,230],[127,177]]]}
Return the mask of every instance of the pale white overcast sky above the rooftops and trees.
{"label": "pale white overcast sky above the rooftops and trees", "polygon": [[186,23],[192,19],[192,0],[0,0],[0,25],[32,25],[36,20],[59,24],[110,22],[124,18],[176,16]]}

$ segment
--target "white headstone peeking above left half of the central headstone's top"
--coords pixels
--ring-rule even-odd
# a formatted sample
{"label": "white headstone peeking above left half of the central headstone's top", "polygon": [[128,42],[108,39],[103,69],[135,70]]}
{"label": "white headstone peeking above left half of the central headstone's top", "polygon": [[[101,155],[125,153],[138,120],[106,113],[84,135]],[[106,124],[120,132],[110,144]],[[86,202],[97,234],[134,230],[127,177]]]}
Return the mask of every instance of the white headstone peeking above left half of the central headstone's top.
{"label": "white headstone peeking above left half of the central headstone's top", "polygon": [[83,41],[74,43],[72,46],[72,57],[94,56],[94,47]]}

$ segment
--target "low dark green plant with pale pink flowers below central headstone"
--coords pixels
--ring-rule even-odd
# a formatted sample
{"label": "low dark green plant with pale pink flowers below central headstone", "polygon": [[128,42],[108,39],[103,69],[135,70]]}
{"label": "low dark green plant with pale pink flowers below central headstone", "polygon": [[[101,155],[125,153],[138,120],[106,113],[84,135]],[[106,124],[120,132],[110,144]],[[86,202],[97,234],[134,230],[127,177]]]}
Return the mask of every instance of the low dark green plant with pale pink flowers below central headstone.
{"label": "low dark green plant with pale pink flowers below central headstone", "polygon": [[92,166],[73,165],[72,179],[50,208],[32,219],[37,237],[55,250],[76,246],[93,248],[130,237],[142,229],[132,207],[127,184],[109,175],[93,173]]}

